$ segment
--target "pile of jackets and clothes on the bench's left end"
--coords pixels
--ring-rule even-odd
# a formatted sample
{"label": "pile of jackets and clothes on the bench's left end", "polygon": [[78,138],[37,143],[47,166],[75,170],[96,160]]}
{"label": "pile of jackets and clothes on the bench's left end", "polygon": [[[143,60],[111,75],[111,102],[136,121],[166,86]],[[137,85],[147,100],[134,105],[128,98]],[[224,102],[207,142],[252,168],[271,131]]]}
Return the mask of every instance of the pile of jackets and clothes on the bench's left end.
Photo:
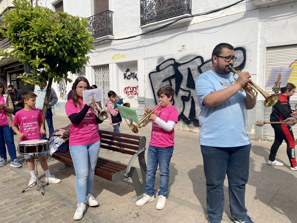
{"label": "pile of jackets and clothes on the bench's left end", "polygon": [[52,156],[56,151],[66,153],[67,149],[69,149],[70,126],[71,124],[53,131],[48,140],[48,155]]}

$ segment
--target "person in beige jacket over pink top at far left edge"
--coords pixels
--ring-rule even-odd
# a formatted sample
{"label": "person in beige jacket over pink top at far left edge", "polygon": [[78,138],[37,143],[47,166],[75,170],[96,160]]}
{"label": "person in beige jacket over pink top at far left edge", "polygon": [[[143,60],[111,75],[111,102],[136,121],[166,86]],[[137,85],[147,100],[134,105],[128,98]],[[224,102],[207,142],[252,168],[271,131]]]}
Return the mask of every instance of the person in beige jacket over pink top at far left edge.
{"label": "person in beige jacket over pink top at far left edge", "polygon": [[0,167],[7,163],[6,147],[11,159],[10,166],[21,167],[15,151],[13,140],[12,115],[14,111],[13,103],[9,95],[5,94],[4,85],[0,82]]}

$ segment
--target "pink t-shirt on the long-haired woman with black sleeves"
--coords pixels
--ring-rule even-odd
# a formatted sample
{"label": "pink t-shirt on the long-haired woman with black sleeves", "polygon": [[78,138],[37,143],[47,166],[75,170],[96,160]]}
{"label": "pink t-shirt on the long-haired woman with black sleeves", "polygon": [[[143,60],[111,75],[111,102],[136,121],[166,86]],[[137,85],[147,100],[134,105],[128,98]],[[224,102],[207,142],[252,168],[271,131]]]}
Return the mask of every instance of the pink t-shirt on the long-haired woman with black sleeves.
{"label": "pink t-shirt on the long-haired woman with black sleeves", "polygon": [[[83,104],[83,100],[79,99],[79,102],[82,104],[81,108],[79,106],[76,107],[72,99],[67,101],[66,114],[68,117],[69,115],[78,113],[81,111],[81,109],[83,109],[83,106],[85,106],[85,104]],[[96,115],[90,108],[86,116],[79,124],[71,123],[69,145],[88,145],[94,142],[98,142],[99,140],[100,136],[98,133]]]}

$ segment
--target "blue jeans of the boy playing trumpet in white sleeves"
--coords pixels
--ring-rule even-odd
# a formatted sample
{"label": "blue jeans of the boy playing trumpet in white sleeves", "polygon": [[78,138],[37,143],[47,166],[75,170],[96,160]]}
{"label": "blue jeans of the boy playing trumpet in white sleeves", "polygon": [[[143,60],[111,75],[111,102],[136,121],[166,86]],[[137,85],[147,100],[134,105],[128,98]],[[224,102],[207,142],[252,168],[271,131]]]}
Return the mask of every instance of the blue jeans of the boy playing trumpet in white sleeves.
{"label": "blue jeans of the boy playing trumpet in white sleeves", "polygon": [[166,197],[169,182],[169,163],[173,153],[172,147],[155,147],[149,145],[146,162],[146,194],[150,197],[155,194],[156,171],[159,164],[160,184],[158,195]]}

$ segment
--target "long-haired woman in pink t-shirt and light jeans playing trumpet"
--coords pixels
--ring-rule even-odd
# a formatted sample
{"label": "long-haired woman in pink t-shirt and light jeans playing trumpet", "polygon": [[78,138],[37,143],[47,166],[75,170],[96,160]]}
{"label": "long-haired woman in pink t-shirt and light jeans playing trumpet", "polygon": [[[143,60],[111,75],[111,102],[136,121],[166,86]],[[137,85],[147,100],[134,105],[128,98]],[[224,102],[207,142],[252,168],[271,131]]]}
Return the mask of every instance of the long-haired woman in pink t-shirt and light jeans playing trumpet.
{"label": "long-haired woman in pink t-shirt and light jeans playing trumpet", "polygon": [[86,205],[98,205],[91,194],[100,148],[98,123],[103,121],[96,117],[90,108],[91,103],[83,103],[83,91],[89,89],[90,84],[85,77],[76,78],[72,98],[66,103],[66,114],[71,121],[69,150],[76,174],[75,187],[78,199],[74,220],[83,217]]}

